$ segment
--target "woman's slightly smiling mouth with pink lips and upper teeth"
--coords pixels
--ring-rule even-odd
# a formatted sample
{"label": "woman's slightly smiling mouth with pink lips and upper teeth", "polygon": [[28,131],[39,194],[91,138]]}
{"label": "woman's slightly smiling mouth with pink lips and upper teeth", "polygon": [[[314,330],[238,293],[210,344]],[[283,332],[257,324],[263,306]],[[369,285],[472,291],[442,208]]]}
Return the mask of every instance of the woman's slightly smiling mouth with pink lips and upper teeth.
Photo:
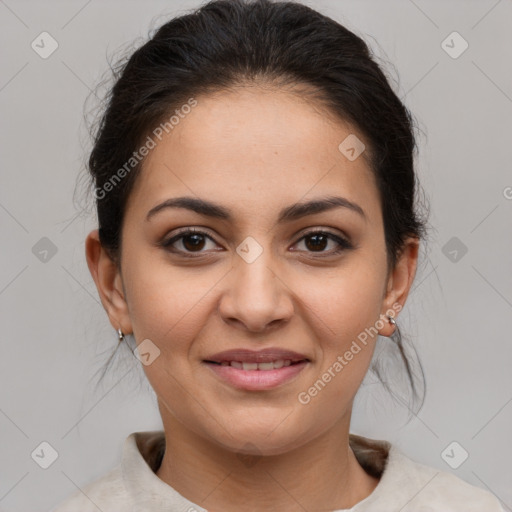
{"label": "woman's slightly smiling mouth with pink lips and upper teeth", "polygon": [[203,360],[223,383],[246,391],[263,391],[289,383],[311,360],[282,349],[229,350]]}

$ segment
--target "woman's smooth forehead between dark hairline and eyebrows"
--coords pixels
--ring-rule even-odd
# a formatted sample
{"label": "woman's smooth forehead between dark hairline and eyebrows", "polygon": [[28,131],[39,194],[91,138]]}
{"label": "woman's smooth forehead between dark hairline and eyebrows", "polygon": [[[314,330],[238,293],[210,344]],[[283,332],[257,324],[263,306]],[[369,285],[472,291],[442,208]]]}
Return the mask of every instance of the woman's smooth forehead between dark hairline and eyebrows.
{"label": "woman's smooth forehead between dark hairline and eyebrows", "polygon": [[217,199],[233,211],[281,209],[302,198],[339,193],[378,208],[363,153],[350,161],[339,149],[349,124],[296,94],[244,87],[196,98],[150,151],[128,207],[147,213],[169,197]]}

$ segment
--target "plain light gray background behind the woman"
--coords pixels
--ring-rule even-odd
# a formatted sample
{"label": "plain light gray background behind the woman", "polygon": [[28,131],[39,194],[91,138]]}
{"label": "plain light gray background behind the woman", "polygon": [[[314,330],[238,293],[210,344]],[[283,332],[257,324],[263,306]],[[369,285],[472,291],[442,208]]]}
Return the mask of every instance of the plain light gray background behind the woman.
{"label": "plain light gray background behind the woman", "polygon": [[[308,3],[393,63],[423,132],[417,169],[434,227],[399,318],[425,368],[425,405],[406,423],[369,374],[351,430],[512,510],[512,2]],[[80,215],[73,192],[89,147],[84,101],[106,55],[198,5],[0,0],[0,510],[49,510],[114,467],[128,434],[161,428],[133,358],[93,388],[117,339],[85,261],[95,218]],[[59,45],[46,59],[31,48],[43,31]],[[469,44],[458,58],[441,45],[453,31]],[[48,469],[31,457],[43,441],[58,453]],[[455,459],[469,453],[457,469],[442,457],[453,441]]]}

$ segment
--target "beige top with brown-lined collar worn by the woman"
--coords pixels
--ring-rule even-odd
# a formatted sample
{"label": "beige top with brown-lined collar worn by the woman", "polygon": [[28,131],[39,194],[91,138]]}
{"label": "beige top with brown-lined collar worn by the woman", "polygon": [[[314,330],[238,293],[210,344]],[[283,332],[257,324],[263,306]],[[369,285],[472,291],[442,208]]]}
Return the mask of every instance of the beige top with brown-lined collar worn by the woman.
{"label": "beige top with brown-lined collar worn by the woman", "polygon": [[[387,441],[350,434],[349,443],[365,471],[380,481],[364,500],[334,512],[504,512],[490,492],[419,464]],[[130,434],[121,463],[52,512],[207,512],[158,478],[164,451],[163,431]]]}

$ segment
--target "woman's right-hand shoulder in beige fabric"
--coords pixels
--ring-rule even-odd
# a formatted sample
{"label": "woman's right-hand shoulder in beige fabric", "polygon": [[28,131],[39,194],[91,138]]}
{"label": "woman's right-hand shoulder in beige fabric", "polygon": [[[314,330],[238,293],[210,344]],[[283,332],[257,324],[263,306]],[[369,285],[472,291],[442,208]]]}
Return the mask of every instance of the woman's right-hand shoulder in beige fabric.
{"label": "woman's right-hand shoulder in beige fabric", "polygon": [[[369,498],[364,502],[375,502],[380,512],[397,507],[402,512],[503,512],[499,500],[490,492],[449,471],[420,464],[394,445],[381,481]],[[373,512],[377,508],[354,510]]]}

